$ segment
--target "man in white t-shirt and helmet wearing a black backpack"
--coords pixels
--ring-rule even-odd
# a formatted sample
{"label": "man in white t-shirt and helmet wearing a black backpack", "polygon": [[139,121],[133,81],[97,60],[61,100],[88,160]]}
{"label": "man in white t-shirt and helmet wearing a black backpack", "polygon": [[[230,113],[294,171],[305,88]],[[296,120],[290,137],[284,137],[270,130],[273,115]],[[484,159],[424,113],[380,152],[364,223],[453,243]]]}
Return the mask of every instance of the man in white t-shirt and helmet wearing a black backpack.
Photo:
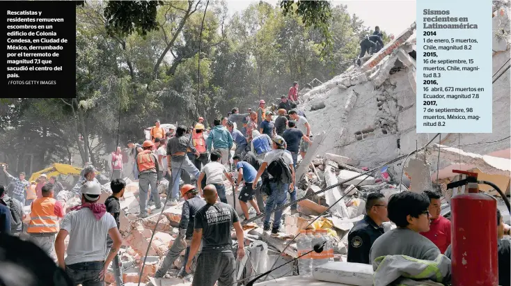
{"label": "man in white t-shirt and helmet wearing a black backpack", "polygon": [[[269,219],[272,217],[272,212],[275,208],[280,208],[285,204],[288,199],[288,190],[294,190],[294,168],[293,159],[291,153],[285,150],[285,141],[281,136],[275,136],[273,139],[274,150],[267,152],[265,160],[258,170],[258,174],[255,176],[255,180],[252,184],[252,189],[258,187],[258,180],[262,173],[268,168],[269,173],[269,188],[271,194],[266,200],[265,206],[265,221],[264,230],[267,231],[270,228]],[[278,209],[274,215],[274,223],[272,228],[272,235],[278,233],[278,229],[281,227],[282,209]]]}

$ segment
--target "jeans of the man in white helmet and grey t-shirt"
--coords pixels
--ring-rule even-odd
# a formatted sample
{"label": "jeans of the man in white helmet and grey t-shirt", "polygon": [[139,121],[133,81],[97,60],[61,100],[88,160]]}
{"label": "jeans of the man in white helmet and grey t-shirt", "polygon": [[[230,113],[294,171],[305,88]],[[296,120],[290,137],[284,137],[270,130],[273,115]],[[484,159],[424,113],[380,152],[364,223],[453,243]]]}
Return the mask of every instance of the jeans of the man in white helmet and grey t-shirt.
{"label": "jeans of the man in white helmet and grey t-shirt", "polygon": [[79,262],[65,266],[65,273],[74,282],[81,286],[103,286],[100,273],[103,271],[102,261]]}

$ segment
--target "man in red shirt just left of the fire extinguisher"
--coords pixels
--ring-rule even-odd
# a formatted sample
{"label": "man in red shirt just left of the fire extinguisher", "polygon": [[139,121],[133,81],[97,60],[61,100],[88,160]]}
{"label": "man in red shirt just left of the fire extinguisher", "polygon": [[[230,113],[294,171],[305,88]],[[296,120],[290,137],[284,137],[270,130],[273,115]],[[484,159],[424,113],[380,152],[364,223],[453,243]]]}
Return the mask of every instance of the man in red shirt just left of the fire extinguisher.
{"label": "man in red shirt just left of the fire extinguisher", "polygon": [[447,247],[450,245],[450,221],[440,215],[440,194],[434,191],[424,191],[425,195],[430,198],[430,211],[431,223],[430,230],[427,232],[420,232],[430,241],[434,243],[441,253],[445,253]]}

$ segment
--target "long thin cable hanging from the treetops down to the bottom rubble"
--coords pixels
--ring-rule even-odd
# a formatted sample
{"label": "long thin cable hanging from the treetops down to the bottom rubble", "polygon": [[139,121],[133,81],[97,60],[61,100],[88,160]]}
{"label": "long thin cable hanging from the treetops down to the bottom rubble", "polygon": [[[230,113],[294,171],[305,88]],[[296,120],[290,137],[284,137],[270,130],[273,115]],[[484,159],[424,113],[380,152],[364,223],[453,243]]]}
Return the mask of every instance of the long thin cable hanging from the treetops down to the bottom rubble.
{"label": "long thin cable hanging from the treetops down to the bottom rubble", "polygon": [[[197,113],[198,113],[198,97],[201,95],[201,43],[202,43],[202,38],[203,38],[203,28],[204,28],[204,19],[206,17],[206,11],[207,11],[207,6],[209,5],[210,1],[208,0],[206,2],[206,7],[204,8],[204,15],[203,15],[203,21],[201,23],[201,35],[199,36],[199,42],[198,42],[198,67],[197,67],[197,73],[198,73],[198,87],[197,87],[197,99],[196,99],[196,110],[195,110],[195,117],[197,118]],[[177,127],[176,127],[177,128]],[[184,135],[183,135],[184,136]],[[191,134],[190,135],[190,138],[189,138],[189,141],[188,141],[188,145],[191,144],[191,137],[193,135]],[[178,168],[178,173],[175,174],[175,178],[174,180],[172,180],[172,182],[168,182],[169,186],[168,186],[168,190],[170,190],[172,192],[172,188],[174,186],[174,184],[176,182],[178,182],[178,180],[180,180],[180,174],[183,172],[183,169],[182,169],[182,164],[184,163],[184,160],[186,160],[186,156],[187,154],[184,154],[185,158],[181,161],[181,164]],[[198,180],[198,178],[195,178],[195,180]],[[201,182],[197,182],[198,184],[200,184]],[[148,248],[146,250],[146,255],[144,255],[143,257],[143,264],[142,264],[142,267],[140,269],[140,273],[139,273],[139,283],[137,284],[137,286],[140,286],[140,283],[141,283],[141,280],[142,280],[142,273],[143,273],[143,268],[146,267],[146,260],[147,260],[147,257],[148,257],[148,254],[149,254],[149,250],[151,248],[151,243],[152,243],[152,239],[155,237],[155,234],[156,234],[156,228],[158,227],[158,223],[159,221],[162,219],[162,214],[165,210],[165,206],[168,202],[168,198],[170,198],[170,193],[168,193],[167,191],[167,197],[165,198],[165,202],[163,203],[162,205],[162,210],[159,212],[159,215],[158,215],[158,219],[155,223],[155,228],[153,228],[152,230],[152,235],[151,235],[151,238],[149,239],[149,244],[148,244]],[[158,196],[159,196],[159,193],[158,193]],[[185,262],[186,263],[186,262]]]}

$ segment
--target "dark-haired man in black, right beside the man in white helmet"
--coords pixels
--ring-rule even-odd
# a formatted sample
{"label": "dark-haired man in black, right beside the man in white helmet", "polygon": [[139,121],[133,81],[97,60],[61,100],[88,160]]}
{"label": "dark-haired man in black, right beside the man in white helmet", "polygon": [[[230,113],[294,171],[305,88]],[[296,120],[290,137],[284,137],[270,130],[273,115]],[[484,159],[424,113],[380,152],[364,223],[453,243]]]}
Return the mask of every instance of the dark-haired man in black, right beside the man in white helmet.
{"label": "dark-haired man in black, right beside the man in white helmet", "polygon": [[[113,219],[116,220],[117,228],[120,228],[120,203],[119,198],[123,198],[124,196],[124,188],[126,186],[126,182],[123,179],[116,179],[110,183],[110,188],[112,190],[112,196],[109,196],[107,200],[104,201],[104,205],[107,207],[107,212],[109,212]],[[107,253],[110,252],[110,248],[112,247],[113,241],[110,236],[107,237]],[[119,261],[119,256],[113,258],[112,269],[113,269],[113,277],[116,279],[116,285],[123,286],[123,272],[121,271],[122,263]]]}

